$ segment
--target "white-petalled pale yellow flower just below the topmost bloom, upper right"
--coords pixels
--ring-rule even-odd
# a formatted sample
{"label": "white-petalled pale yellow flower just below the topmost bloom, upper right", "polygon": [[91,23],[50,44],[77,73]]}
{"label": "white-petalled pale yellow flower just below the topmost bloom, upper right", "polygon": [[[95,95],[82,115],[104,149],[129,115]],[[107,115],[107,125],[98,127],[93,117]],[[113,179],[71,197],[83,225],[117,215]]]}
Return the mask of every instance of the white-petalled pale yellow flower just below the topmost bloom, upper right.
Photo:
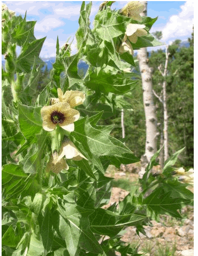
{"label": "white-petalled pale yellow flower just below the topmost bloom, upper right", "polygon": [[128,38],[132,43],[136,43],[136,41],[138,41],[138,36],[144,36],[148,34],[146,30],[143,30],[144,27],[146,26],[132,23],[128,24],[124,40]]}

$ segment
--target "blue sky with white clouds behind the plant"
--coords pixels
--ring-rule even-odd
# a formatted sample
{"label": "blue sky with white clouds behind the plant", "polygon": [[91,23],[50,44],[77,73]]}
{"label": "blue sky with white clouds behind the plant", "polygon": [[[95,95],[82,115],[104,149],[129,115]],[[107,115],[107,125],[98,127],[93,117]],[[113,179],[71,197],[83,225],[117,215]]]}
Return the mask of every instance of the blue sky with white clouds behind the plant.
{"label": "blue sky with white clouds behind the plant", "polygon": [[[59,38],[60,47],[71,36],[72,53],[75,47],[75,32],[78,30],[78,18],[81,1],[3,1],[10,10],[24,17],[27,11],[27,20],[36,20],[35,37],[37,39],[47,36],[40,56],[53,57],[56,53],[56,40]],[[88,2],[86,2],[88,3]],[[91,24],[102,1],[93,1],[90,14]],[[126,1],[112,4],[112,9],[121,9]],[[148,1],[147,16],[158,20],[150,32],[162,31],[161,41],[170,44],[176,39],[186,41],[191,37],[194,24],[194,4],[192,1]],[[158,48],[163,48],[158,47]],[[153,50],[157,47],[152,47]]]}

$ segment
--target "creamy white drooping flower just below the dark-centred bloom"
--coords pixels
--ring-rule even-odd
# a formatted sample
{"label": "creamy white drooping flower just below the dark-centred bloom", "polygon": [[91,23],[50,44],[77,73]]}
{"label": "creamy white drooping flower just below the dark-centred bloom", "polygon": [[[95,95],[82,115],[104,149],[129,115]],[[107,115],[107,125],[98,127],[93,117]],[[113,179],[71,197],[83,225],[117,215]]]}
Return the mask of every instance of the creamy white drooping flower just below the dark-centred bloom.
{"label": "creamy white drooping flower just below the dark-centred bloom", "polygon": [[86,159],[85,156],[75,147],[73,142],[71,142],[68,138],[63,142],[62,147],[59,152],[59,159],[66,157],[66,159],[72,159],[75,161],[79,161],[82,158]]}

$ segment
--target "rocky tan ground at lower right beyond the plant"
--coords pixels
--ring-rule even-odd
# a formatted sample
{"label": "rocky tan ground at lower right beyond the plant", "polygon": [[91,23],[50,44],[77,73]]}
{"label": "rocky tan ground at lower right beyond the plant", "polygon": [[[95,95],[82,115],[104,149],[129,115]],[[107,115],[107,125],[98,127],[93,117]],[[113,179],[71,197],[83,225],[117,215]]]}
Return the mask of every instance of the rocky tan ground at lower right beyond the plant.
{"label": "rocky tan ground at lower right beyond the plant", "polygon": [[[137,173],[122,171],[106,172],[108,177],[128,179],[138,182]],[[110,204],[123,200],[128,192],[124,189],[113,187]],[[194,212],[192,207],[185,207],[182,210],[184,220],[177,221],[170,216],[162,216],[161,222],[151,221],[152,226],[144,226],[146,236],[136,234],[133,226],[127,227],[121,240],[139,246],[139,253],[146,253],[146,256],[193,256],[194,243]],[[167,252],[165,253],[165,250]],[[119,254],[118,254],[119,255]]]}

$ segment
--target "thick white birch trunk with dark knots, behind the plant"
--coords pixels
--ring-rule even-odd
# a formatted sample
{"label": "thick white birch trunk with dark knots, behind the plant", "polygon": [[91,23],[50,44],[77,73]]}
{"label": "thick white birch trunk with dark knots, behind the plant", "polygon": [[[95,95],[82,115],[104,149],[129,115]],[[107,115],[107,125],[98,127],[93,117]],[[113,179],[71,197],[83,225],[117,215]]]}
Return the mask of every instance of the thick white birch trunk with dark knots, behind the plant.
{"label": "thick white birch trunk with dark knots, behind the plant", "polygon": [[[140,14],[141,16],[147,16],[147,2],[141,2],[145,8]],[[156,107],[154,105],[153,96],[153,83],[151,79],[151,69],[147,63],[147,48],[141,48],[138,50],[139,67],[142,78],[143,88],[143,104],[146,117],[146,147],[145,153],[142,157],[144,162],[149,162],[150,158],[157,151],[157,118]]]}

